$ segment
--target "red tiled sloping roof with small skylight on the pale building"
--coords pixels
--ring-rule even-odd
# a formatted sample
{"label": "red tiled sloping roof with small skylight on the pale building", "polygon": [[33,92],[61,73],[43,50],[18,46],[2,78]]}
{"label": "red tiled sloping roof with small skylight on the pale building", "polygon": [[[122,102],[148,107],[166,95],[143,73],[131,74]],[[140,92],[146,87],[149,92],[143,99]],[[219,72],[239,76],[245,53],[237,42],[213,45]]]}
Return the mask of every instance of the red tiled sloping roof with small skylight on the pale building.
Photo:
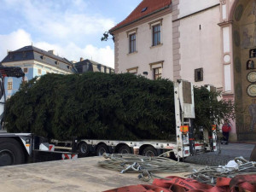
{"label": "red tiled sloping roof with small skylight on the pale building", "polygon": [[[157,10],[166,8],[166,6],[170,5],[172,3],[172,0],[143,0],[142,3],[139,3],[136,9],[134,9],[128,17],[126,17],[125,20],[119,22],[116,26],[113,26],[112,29],[110,29],[110,32],[113,32],[114,30],[130,24],[132,21],[139,20],[143,18],[144,16],[147,16],[149,14],[154,13]],[[146,9],[147,8],[147,9]],[[146,9],[143,11],[143,9]]]}

